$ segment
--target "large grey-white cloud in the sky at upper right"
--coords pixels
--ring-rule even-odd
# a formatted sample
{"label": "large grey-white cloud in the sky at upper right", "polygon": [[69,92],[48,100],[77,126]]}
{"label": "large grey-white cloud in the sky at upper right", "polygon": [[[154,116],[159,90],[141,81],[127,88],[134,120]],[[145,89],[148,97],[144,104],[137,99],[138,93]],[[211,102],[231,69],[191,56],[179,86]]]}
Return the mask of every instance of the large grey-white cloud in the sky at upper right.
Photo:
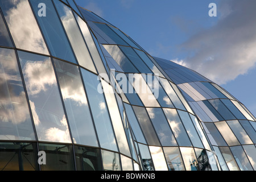
{"label": "large grey-white cloud in the sky at upper right", "polygon": [[213,27],[191,36],[182,46],[187,67],[217,84],[246,74],[256,63],[256,1],[224,1]]}

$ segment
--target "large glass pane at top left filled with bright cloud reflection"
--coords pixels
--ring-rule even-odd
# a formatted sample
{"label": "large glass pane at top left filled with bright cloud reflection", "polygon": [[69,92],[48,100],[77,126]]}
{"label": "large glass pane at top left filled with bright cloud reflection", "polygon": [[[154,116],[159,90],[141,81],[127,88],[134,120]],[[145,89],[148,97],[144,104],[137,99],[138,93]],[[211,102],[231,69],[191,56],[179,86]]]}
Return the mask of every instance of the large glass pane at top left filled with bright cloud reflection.
{"label": "large glass pane at top left filled with bright cloud reflection", "polygon": [[0,6],[16,47],[49,55],[28,1],[2,0]]}

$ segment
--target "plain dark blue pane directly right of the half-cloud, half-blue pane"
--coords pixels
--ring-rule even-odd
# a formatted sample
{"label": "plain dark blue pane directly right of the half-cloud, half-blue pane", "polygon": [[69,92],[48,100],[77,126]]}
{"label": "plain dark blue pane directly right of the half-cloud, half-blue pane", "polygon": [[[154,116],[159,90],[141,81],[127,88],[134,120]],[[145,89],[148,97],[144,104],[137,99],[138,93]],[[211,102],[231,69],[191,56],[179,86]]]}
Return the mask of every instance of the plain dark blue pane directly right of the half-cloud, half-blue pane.
{"label": "plain dark blue pane directly right of the half-cloud, half-blue pane", "polygon": [[141,60],[141,58],[137,55],[137,53],[134,51],[131,47],[125,47],[125,46],[118,46],[123,53],[126,55],[126,57],[131,61],[131,63],[134,64],[134,66],[138,69],[141,73],[151,73],[151,70],[147,67],[147,65]]}

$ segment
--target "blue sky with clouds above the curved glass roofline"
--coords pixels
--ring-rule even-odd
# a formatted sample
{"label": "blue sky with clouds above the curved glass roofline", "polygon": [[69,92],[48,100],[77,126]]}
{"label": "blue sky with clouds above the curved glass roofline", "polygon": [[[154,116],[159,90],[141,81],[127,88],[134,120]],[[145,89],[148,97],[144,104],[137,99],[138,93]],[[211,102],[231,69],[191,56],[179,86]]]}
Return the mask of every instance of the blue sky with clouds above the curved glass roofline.
{"label": "blue sky with clouds above the curved glass roofline", "polygon": [[[210,17],[209,3],[217,16]],[[150,55],[176,61],[221,85],[256,116],[256,1],[76,0]]]}

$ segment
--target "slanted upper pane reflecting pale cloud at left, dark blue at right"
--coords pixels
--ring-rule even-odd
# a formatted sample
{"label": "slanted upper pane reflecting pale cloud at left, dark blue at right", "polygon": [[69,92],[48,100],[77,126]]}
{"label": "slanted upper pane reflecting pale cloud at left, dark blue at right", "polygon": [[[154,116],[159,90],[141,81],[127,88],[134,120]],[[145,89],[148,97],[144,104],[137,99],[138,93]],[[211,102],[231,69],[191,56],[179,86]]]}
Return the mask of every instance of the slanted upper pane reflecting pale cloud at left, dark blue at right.
{"label": "slanted upper pane reflecting pale cloud at left, dark blue at right", "polygon": [[121,49],[118,46],[113,45],[104,45],[104,48],[109,52],[117,64],[125,71],[126,73],[138,73],[139,71],[134,67],[129,59],[123,54]]}

